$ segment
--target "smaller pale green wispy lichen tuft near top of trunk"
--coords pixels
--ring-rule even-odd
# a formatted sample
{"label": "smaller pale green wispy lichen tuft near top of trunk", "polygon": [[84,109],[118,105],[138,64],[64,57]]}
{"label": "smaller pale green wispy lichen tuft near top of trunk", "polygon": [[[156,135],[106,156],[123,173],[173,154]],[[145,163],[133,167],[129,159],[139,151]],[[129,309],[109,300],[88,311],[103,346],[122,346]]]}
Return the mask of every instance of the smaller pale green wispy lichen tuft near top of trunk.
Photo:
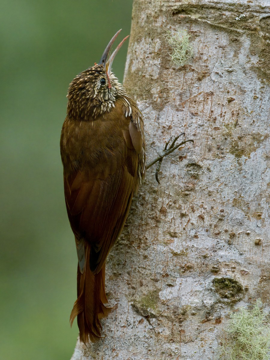
{"label": "smaller pale green wispy lichen tuft near top of trunk", "polygon": [[189,42],[190,36],[186,30],[179,28],[176,28],[176,31],[167,30],[165,34],[168,43],[172,46],[172,53],[169,55],[172,62],[178,66],[185,65],[193,56],[192,46]]}

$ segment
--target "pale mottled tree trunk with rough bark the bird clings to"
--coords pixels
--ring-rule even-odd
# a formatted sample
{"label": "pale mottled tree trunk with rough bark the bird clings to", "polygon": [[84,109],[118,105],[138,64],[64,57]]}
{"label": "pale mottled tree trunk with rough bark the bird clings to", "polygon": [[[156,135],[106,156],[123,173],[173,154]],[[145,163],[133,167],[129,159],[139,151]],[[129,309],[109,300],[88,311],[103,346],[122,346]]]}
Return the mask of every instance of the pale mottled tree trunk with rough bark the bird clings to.
{"label": "pale mottled tree trunk with rough bark the bird clings to", "polygon": [[[240,14],[245,14],[236,20]],[[148,162],[180,132],[194,144],[150,168],[107,261],[103,336],[78,359],[218,359],[234,307],[269,301],[269,1],[135,0],[125,86]],[[170,64],[166,30],[194,57]]]}

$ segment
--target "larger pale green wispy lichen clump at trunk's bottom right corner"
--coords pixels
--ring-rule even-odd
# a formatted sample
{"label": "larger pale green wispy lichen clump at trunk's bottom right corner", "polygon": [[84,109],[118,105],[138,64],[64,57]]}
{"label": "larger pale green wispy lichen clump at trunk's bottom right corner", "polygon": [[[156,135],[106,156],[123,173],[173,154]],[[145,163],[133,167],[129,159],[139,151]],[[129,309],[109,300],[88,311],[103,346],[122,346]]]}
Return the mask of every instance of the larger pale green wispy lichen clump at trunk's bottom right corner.
{"label": "larger pale green wispy lichen clump at trunk's bottom right corner", "polygon": [[226,360],[268,360],[270,351],[270,328],[262,303],[257,300],[252,309],[240,307],[230,314],[228,328],[230,335],[223,346]]}

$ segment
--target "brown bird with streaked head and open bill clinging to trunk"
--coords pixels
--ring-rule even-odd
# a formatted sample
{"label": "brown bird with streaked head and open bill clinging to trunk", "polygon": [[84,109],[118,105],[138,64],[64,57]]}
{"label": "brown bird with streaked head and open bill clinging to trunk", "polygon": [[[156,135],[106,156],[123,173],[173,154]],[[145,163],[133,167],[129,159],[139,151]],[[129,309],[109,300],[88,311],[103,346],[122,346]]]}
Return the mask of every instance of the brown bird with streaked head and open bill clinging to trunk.
{"label": "brown bird with streaked head and open bill clinging to trunk", "polygon": [[105,261],[146,169],[142,114],[111,72],[128,37],[109,56],[119,32],[100,62],[69,85],[60,140],[67,213],[78,255],[78,298],[70,322],[77,316],[84,343],[100,337],[100,319],[111,310],[104,306]]}

